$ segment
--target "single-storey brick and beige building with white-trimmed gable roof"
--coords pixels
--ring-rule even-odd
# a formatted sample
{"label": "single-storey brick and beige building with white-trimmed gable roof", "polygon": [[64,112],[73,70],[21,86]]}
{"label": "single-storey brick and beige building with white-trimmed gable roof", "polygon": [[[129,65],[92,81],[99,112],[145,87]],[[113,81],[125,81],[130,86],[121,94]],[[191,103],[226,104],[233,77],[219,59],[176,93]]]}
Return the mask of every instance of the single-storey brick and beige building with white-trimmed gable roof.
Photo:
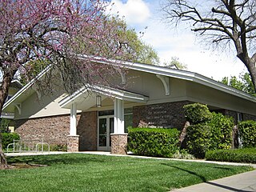
{"label": "single-storey brick and beige building with white-trimmed gable roof", "polygon": [[[120,61],[94,58],[92,62],[118,65]],[[126,153],[128,126],[182,130],[183,106],[188,103],[207,104],[236,122],[256,120],[256,98],[213,79],[142,63],[122,62],[122,66],[128,73],[115,79],[122,89],[87,86],[67,95],[58,87],[52,95],[41,95],[33,80],[6,102],[3,111],[14,113],[15,130],[22,138],[67,143],[69,151],[111,150],[114,154]]]}

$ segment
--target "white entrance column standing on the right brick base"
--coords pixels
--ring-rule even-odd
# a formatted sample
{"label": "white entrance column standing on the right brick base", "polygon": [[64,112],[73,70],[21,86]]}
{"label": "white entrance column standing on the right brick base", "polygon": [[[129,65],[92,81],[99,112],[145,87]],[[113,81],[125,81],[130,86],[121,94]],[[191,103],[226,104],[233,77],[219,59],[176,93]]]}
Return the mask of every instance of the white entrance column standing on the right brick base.
{"label": "white entrance column standing on the right brick base", "polygon": [[125,116],[123,100],[114,99],[114,134],[125,133]]}

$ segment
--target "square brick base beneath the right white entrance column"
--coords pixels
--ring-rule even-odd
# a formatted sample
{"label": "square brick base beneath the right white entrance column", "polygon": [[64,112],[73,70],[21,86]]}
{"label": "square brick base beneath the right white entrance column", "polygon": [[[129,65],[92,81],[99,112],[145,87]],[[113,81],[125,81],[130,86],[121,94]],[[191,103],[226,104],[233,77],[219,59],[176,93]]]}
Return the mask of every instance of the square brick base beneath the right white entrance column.
{"label": "square brick base beneath the right white entrance column", "polygon": [[111,154],[127,154],[127,135],[111,134]]}

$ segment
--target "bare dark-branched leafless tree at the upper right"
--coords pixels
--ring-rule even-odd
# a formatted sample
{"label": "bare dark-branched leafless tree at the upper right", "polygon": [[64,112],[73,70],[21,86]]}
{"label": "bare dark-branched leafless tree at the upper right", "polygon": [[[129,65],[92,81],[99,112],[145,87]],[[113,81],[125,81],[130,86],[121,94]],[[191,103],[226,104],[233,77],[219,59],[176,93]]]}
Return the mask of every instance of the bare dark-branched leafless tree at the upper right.
{"label": "bare dark-branched leafless tree at the upper right", "polygon": [[234,45],[256,87],[255,0],[166,0],[162,10],[167,22],[189,22],[191,30],[213,45]]}

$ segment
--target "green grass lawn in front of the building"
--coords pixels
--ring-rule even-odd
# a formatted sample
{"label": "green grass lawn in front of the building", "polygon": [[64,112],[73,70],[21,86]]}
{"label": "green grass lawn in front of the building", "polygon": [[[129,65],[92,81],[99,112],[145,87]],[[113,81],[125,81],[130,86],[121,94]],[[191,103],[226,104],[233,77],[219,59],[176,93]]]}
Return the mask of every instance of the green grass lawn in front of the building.
{"label": "green grass lawn in front of the building", "polygon": [[0,170],[4,191],[168,191],[252,170],[249,166],[58,154],[8,158],[46,167]]}

